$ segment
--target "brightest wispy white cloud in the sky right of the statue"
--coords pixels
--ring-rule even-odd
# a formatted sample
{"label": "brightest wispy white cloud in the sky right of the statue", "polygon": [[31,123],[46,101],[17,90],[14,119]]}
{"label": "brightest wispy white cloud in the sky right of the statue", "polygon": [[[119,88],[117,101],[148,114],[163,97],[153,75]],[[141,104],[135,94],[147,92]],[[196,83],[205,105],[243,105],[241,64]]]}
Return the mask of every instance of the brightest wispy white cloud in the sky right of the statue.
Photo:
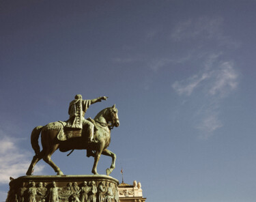
{"label": "brightest wispy white cloud in the sky right of the statue", "polygon": [[175,81],[173,89],[180,96],[201,96],[205,100],[203,109],[198,109],[195,116],[199,121],[195,128],[203,132],[204,138],[223,126],[218,110],[221,100],[227,98],[238,87],[238,72],[232,61],[221,61],[218,55],[209,55],[204,62],[203,71],[184,79]]}

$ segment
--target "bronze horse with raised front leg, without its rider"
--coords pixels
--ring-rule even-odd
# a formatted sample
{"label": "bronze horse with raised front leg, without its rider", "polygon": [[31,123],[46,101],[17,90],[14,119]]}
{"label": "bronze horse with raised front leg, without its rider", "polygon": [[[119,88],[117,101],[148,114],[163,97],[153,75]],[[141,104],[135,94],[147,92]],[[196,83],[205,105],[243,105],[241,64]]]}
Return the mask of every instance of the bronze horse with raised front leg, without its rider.
{"label": "bronze horse with raised front leg, without its rider", "polygon": [[[51,127],[56,122],[50,123],[52,125],[47,124],[46,126],[35,127],[31,132],[31,145],[33,150],[35,151],[35,156],[33,156],[33,159],[31,160],[31,164],[29,166],[29,169],[27,170],[26,175],[32,175],[35,164],[41,159],[49,164],[57,173],[57,175],[63,175],[59,167],[57,167],[53,160],[51,160],[51,156],[57,149],[59,149],[60,152],[68,152],[71,149],[72,151],[74,149],[87,149],[87,154],[88,152],[91,152],[89,153],[90,156],[94,157],[94,166],[91,170],[91,173],[94,173],[94,175],[98,175],[97,165],[98,160],[100,159],[100,155],[103,154],[106,156],[111,156],[111,167],[106,169],[106,175],[109,175],[113,171],[113,169],[115,169],[116,156],[113,152],[109,151],[109,149],[106,148],[109,147],[109,144],[111,142],[111,129],[113,129],[114,126],[119,126],[119,119],[117,113],[118,110],[115,108],[114,104],[111,107],[103,109],[98,113],[98,115],[96,115],[96,117],[94,117],[94,123],[96,124],[96,128],[98,129],[95,131],[94,134],[96,139],[94,143],[88,143],[86,126],[83,127],[81,136],[74,137],[66,141],[59,141],[59,139],[57,139],[57,134],[59,133],[59,130]],[[42,143],[41,151],[38,144],[40,133]]]}

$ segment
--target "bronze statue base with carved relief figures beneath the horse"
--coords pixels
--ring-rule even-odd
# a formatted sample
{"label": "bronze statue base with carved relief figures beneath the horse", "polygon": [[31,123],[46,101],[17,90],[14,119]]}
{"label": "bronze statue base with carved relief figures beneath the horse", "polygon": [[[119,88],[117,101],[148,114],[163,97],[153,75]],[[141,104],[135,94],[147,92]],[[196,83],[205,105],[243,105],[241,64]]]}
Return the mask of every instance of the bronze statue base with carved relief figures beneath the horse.
{"label": "bronze statue base with carved relief figures beneath the horse", "polygon": [[118,184],[108,175],[27,175],[11,180],[6,202],[118,202]]}

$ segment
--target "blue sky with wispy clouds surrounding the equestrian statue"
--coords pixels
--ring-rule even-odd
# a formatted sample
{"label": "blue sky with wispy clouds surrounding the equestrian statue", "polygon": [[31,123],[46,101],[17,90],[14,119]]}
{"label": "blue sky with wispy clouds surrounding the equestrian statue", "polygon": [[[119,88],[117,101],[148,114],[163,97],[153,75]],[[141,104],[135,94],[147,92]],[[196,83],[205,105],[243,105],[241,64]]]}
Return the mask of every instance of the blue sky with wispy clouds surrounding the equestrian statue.
{"label": "blue sky with wispy clouds surrounding the equestrian statue", "polygon": [[[74,95],[109,96],[111,176],[147,202],[256,199],[256,1],[1,1],[0,201],[25,175],[31,130],[68,119]],[[85,151],[53,160],[90,174]],[[111,159],[100,158],[104,174]],[[35,175],[55,175],[39,162]]]}

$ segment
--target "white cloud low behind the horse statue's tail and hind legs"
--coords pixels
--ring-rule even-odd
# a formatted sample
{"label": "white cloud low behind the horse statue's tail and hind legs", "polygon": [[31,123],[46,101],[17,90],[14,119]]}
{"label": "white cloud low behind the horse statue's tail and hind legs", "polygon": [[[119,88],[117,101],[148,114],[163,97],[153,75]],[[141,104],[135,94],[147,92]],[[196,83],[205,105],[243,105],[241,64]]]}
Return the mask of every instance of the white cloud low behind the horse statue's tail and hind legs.
{"label": "white cloud low behind the horse statue's tail and hind legs", "polygon": [[[10,177],[19,177],[25,175],[30,161],[31,154],[24,149],[20,149],[16,144],[17,139],[7,136],[1,136],[0,142],[0,184],[10,182]],[[37,173],[42,171],[43,167],[36,168]]]}

